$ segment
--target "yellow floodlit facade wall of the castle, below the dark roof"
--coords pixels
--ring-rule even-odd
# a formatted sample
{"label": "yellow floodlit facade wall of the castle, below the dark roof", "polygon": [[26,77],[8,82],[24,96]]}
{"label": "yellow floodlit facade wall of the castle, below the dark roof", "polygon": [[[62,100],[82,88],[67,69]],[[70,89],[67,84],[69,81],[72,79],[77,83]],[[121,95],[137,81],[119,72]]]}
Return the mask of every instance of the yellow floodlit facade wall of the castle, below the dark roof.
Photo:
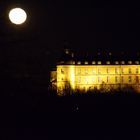
{"label": "yellow floodlit facade wall of the castle, below the dark roof", "polygon": [[57,65],[57,88],[139,85],[140,65]]}

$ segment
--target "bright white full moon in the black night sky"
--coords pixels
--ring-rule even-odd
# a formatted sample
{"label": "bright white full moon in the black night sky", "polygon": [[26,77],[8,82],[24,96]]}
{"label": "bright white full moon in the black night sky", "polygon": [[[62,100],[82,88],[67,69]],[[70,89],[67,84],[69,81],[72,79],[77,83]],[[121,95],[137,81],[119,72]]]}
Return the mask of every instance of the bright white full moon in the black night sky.
{"label": "bright white full moon in the black night sky", "polygon": [[14,8],[9,12],[9,19],[12,23],[20,25],[26,21],[27,14],[21,8]]}

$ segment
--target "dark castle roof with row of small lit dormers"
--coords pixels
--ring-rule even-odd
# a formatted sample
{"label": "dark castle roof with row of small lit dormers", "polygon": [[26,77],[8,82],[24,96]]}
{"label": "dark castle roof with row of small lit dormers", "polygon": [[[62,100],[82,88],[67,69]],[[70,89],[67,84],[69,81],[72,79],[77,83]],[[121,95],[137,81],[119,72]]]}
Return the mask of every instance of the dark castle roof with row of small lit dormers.
{"label": "dark castle roof with row of small lit dormers", "polygon": [[58,65],[139,65],[140,53],[138,52],[90,52],[90,53],[63,53]]}

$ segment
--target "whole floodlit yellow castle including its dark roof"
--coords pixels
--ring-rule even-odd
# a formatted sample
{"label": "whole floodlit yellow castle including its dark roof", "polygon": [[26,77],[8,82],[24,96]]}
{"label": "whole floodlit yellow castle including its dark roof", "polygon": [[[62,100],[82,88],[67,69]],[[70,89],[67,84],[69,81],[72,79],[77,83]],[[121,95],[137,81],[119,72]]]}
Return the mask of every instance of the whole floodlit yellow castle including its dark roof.
{"label": "whole floodlit yellow castle including its dark roof", "polygon": [[71,87],[73,90],[117,89],[131,86],[140,91],[140,61],[136,58],[122,59],[111,58],[111,53],[106,59],[100,55],[91,59],[77,59],[69,50],[65,56],[69,58],[60,60],[56,70],[51,71],[51,81],[57,88],[57,93]]}

